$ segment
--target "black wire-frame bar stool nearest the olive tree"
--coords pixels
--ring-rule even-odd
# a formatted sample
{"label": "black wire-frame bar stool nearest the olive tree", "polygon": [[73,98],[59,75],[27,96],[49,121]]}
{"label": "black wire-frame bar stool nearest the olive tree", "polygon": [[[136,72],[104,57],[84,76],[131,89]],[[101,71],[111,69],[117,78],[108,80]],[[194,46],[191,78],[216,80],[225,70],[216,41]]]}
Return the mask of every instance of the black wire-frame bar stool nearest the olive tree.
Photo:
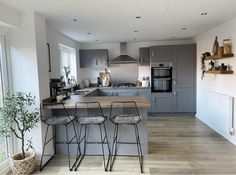
{"label": "black wire-frame bar stool nearest the olive tree", "polygon": [[[69,164],[69,170],[72,171],[73,168],[76,165],[76,162],[78,161],[80,155],[81,155],[81,151],[79,148],[79,140],[76,134],[76,129],[75,129],[75,117],[74,116],[70,116],[68,111],[65,108],[65,105],[63,103],[58,103],[58,105],[60,106],[58,109],[62,109],[60,116],[53,116],[50,114],[43,114],[43,110],[42,107],[41,109],[41,121],[47,125],[47,129],[46,129],[46,134],[45,134],[45,138],[44,138],[44,143],[43,143],[43,153],[41,156],[41,161],[40,161],[40,171],[43,170],[43,168],[52,160],[52,158],[56,155],[56,144],[66,144],[67,145],[67,154],[68,154],[68,164]],[[68,125],[72,124],[73,127],[73,134],[74,136],[72,138],[70,138],[69,140],[69,133],[68,133]],[[53,136],[50,139],[47,139],[48,137],[48,129],[49,127],[52,127],[53,130]],[[56,129],[57,126],[64,126],[65,127],[65,134],[66,134],[66,141],[64,142],[57,142],[56,140]],[[50,143],[51,141],[53,141],[54,144],[54,153],[53,154],[45,154],[45,147],[48,143]],[[71,156],[70,156],[70,144],[77,144],[78,148],[77,148],[77,155],[76,155],[76,159],[75,162],[73,163],[73,165],[71,166]],[[46,163],[44,163],[43,165],[43,159],[44,157],[50,157]]]}

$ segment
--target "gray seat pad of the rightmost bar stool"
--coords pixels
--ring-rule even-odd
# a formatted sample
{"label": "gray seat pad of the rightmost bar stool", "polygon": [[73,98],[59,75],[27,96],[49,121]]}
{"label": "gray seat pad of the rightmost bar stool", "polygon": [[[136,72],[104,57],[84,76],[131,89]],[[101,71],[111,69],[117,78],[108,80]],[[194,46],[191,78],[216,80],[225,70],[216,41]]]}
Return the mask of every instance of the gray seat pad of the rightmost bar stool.
{"label": "gray seat pad of the rightmost bar stool", "polygon": [[111,121],[116,124],[137,124],[141,121],[141,117],[137,115],[120,114],[112,117]]}

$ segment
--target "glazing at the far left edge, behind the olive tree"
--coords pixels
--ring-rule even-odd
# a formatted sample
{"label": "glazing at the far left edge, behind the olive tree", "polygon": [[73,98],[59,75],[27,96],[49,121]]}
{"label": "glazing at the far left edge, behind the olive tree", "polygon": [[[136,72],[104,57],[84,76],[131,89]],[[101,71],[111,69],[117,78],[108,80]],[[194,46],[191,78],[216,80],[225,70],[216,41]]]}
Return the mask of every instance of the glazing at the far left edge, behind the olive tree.
{"label": "glazing at the far left edge, behind the olive tree", "polygon": [[[0,35],[0,108],[2,97],[7,87],[7,64],[6,64],[5,37]],[[0,136],[0,165],[8,159],[8,139]]]}

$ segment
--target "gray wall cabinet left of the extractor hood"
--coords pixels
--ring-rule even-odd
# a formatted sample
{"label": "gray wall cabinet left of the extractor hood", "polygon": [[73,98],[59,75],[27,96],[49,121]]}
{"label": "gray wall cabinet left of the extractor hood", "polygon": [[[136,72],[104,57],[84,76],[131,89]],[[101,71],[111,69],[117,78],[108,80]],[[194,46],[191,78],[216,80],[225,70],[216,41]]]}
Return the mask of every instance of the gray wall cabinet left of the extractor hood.
{"label": "gray wall cabinet left of the extractor hood", "polygon": [[108,64],[107,49],[80,50],[80,67],[96,68],[106,67]]}

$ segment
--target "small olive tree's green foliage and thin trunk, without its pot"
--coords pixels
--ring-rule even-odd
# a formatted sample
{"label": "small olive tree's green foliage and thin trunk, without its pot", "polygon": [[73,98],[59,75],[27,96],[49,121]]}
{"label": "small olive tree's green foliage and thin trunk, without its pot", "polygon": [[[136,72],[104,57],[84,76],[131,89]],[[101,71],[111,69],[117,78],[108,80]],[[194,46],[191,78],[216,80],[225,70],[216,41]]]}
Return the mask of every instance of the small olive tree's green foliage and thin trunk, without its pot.
{"label": "small olive tree's green foliage and thin trunk, without its pot", "polygon": [[35,97],[31,93],[7,91],[0,109],[0,135],[14,133],[21,140],[22,159],[25,159],[25,134],[39,121],[39,110],[35,108]]}

